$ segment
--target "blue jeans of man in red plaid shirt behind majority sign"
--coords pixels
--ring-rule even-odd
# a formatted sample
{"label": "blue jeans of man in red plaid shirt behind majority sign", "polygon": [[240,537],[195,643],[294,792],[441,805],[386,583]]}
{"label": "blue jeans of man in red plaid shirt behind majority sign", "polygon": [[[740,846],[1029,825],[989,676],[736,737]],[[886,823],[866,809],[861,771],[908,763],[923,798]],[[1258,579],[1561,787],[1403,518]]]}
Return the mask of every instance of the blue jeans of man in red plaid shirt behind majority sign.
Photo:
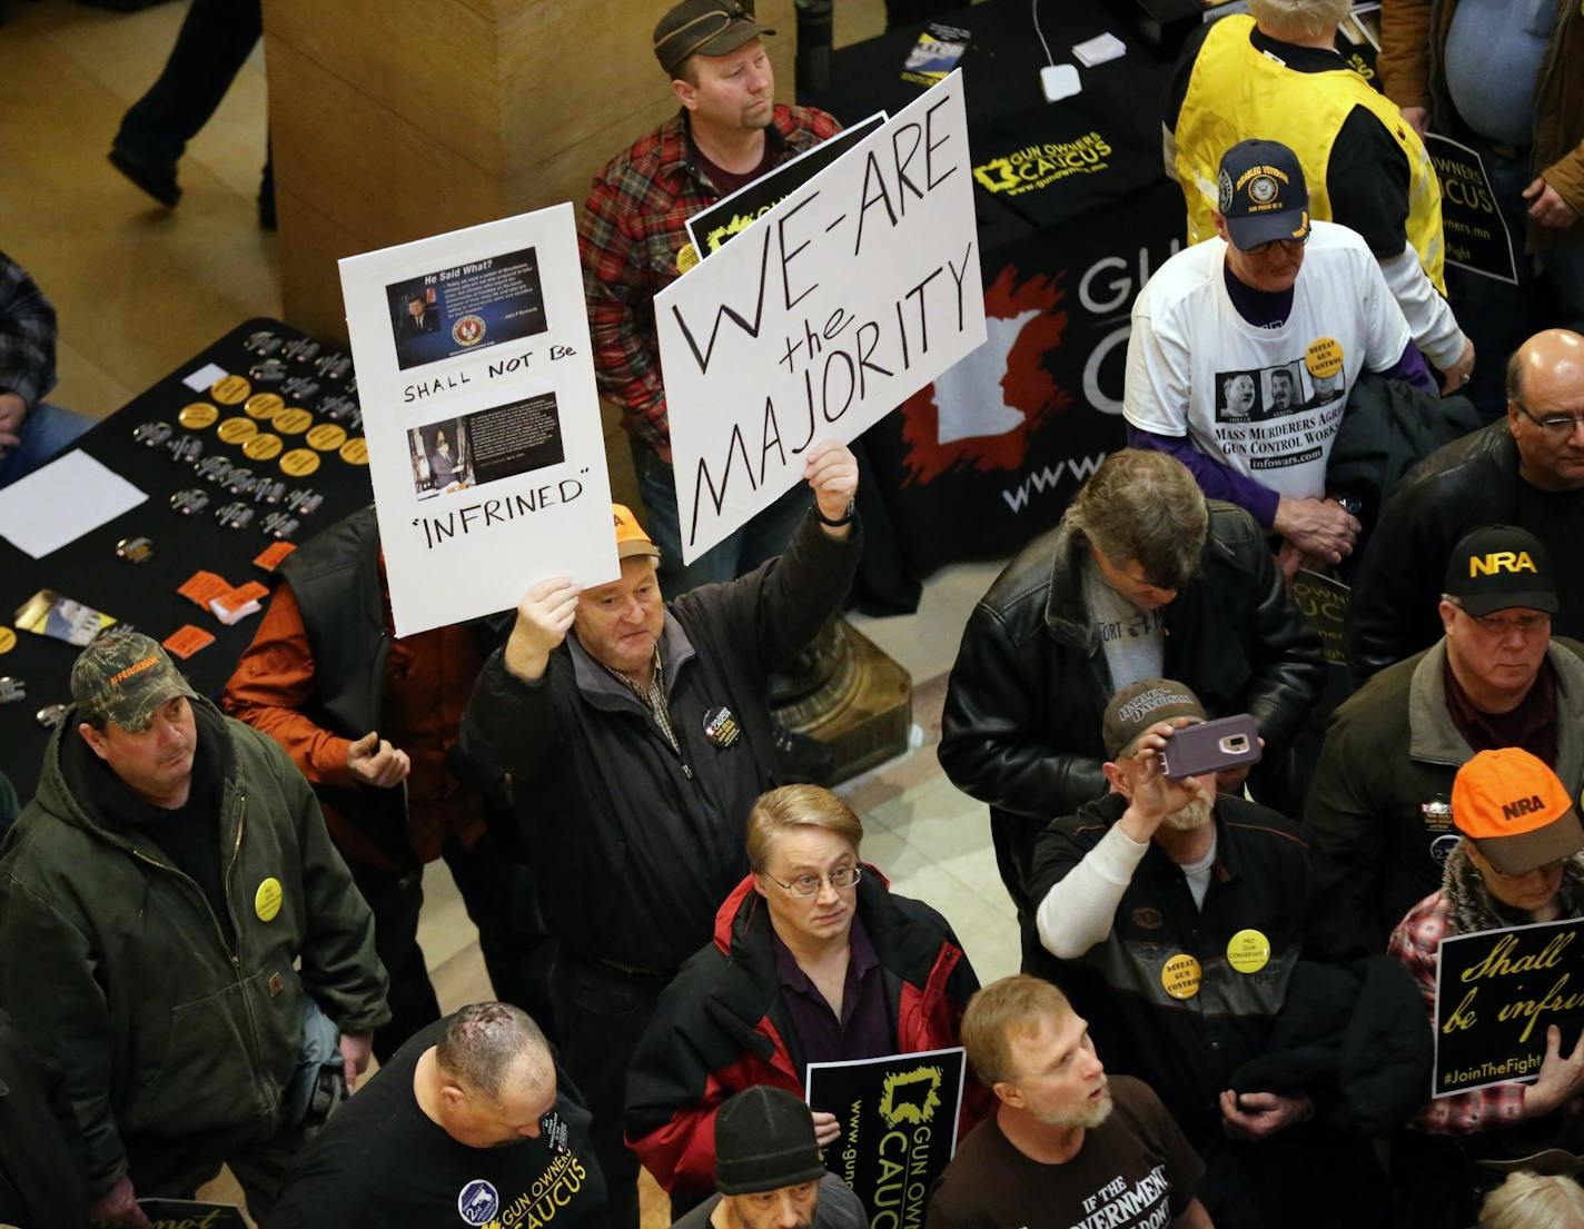
{"label": "blue jeans of man in red plaid shirt behind majority sign", "polygon": [[680,597],[689,589],[714,581],[737,580],[752,572],[765,559],[784,553],[792,531],[814,500],[805,483],[798,483],[754,519],[716,543],[686,567],[683,565],[681,518],[676,512],[676,474],[642,443],[632,443],[632,467],[638,472],[638,494],[648,516],[643,527],[661,548],[661,591]]}

